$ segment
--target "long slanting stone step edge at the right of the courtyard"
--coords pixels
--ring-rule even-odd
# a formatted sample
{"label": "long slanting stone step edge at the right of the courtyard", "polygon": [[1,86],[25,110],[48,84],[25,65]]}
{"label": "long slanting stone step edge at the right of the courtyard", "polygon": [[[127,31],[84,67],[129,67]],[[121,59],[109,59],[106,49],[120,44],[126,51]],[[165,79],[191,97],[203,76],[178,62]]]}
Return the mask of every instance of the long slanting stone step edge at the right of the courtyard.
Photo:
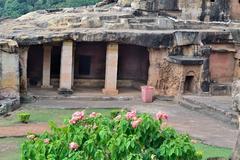
{"label": "long slanting stone step edge at the right of the courtyard", "polygon": [[178,101],[178,103],[187,109],[203,113],[233,127],[238,127],[237,113],[231,111],[223,111],[217,107],[208,106],[206,104],[188,98],[182,98]]}

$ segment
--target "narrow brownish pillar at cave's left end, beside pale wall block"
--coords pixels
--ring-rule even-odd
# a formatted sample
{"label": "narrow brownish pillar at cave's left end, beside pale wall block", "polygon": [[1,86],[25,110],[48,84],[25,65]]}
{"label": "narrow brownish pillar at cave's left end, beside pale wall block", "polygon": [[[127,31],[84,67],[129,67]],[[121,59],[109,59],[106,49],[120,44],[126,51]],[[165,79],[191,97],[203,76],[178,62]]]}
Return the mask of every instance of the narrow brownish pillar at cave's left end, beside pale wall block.
{"label": "narrow brownish pillar at cave's left end, beside pale wall block", "polygon": [[29,47],[20,47],[18,49],[19,53],[19,63],[20,63],[20,93],[27,94],[27,59],[28,59],[28,49]]}

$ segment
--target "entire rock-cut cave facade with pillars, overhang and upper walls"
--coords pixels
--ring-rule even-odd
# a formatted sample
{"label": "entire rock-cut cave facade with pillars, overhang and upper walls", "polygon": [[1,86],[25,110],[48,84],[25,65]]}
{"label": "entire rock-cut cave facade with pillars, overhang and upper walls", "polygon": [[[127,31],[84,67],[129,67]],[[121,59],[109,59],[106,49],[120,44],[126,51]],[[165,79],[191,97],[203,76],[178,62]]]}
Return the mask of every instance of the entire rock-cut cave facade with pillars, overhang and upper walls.
{"label": "entire rock-cut cave facade with pillars, overhang and upper walls", "polygon": [[240,78],[237,0],[111,2],[1,21],[0,95],[43,86],[116,95],[141,85],[163,96],[231,94]]}

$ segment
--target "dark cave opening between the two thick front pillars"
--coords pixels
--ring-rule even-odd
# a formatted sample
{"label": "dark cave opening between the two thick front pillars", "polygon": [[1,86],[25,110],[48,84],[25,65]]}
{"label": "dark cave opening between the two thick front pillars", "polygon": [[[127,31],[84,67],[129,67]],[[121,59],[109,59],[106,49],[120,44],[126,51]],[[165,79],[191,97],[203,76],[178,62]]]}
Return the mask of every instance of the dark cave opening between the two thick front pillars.
{"label": "dark cave opening between the two thick front pillars", "polygon": [[74,58],[74,85],[76,92],[102,93],[105,82],[105,42],[77,42]]}

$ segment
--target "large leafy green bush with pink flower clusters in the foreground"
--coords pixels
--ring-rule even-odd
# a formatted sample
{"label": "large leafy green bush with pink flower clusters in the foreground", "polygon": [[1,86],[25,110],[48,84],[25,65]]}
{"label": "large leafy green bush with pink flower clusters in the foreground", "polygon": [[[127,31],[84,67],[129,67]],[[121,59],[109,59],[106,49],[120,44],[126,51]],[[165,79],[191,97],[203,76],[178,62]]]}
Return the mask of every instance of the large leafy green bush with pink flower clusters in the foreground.
{"label": "large leafy green bush with pink flower clusters in the foreground", "polygon": [[51,122],[51,132],[28,135],[22,160],[200,160],[187,135],[162,128],[166,114],[121,112],[115,118],[76,112],[66,126]]}

